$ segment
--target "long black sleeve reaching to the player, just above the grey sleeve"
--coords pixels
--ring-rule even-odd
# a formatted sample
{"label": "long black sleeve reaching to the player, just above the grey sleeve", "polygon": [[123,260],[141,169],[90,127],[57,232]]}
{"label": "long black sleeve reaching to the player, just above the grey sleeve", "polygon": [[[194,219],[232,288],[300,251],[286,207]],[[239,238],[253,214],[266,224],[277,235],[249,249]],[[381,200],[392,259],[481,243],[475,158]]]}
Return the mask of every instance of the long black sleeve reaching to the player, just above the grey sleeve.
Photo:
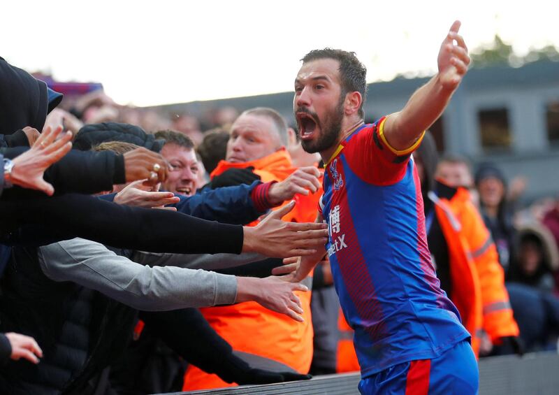
{"label": "long black sleeve reaching to the player, just above the grey sleeve", "polygon": [[[106,245],[152,252],[214,254],[242,250],[240,225],[200,220],[182,213],[120,206],[94,196],[65,194],[52,198],[0,202],[4,243],[28,245],[24,224],[41,225],[44,244],[82,237]],[[36,240],[29,240],[35,243]],[[35,244],[37,245],[37,244]]]}

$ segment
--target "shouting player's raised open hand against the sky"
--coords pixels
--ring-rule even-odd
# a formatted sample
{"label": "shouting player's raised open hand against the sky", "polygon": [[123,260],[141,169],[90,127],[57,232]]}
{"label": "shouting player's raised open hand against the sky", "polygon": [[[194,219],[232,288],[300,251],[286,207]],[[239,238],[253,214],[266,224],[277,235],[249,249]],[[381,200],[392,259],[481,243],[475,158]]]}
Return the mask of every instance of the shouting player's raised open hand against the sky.
{"label": "shouting player's raised open hand against the sky", "polygon": [[458,34],[459,29],[460,21],[456,20],[441,44],[437,59],[440,82],[444,88],[451,90],[458,87],[470,64],[464,38]]}

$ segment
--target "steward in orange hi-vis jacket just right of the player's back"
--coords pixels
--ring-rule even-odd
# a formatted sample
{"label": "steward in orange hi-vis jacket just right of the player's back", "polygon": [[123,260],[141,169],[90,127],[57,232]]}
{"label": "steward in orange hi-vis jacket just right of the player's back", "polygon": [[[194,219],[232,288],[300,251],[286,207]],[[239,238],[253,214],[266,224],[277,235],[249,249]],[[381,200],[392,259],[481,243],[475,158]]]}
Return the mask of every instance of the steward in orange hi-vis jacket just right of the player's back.
{"label": "steward in orange hi-vis jacket just right of the player's back", "polygon": [[430,134],[426,134],[415,159],[437,277],[472,334],[474,351],[479,352],[481,330],[495,345],[503,338],[518,338],[495,243],[470,193],[463,187],[435,182],[438,155]]}

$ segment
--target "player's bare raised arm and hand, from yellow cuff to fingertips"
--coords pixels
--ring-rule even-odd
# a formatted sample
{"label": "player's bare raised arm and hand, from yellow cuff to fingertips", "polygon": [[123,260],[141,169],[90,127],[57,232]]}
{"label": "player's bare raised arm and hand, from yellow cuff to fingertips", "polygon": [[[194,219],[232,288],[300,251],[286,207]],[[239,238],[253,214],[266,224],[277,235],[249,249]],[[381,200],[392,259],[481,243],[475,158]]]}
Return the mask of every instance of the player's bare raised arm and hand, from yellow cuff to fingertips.
{"label": "player's bare raised arm and hand, from yellow cuff to fingertips", "polygon": [[412,147],[423,131],[440,117],[467,72],[470,57],[458,29],[460,21],[457,20],[441,44],[438,73],[412,94],[399,113],[386,118],[384,136],[395,150]]}

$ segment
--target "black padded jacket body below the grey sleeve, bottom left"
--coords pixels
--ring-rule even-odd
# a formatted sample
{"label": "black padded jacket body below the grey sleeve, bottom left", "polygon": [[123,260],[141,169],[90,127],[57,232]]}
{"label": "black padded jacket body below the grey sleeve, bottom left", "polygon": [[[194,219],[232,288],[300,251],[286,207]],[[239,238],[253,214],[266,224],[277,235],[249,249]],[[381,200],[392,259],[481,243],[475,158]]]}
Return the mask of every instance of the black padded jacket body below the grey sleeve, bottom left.
{"label": "black padded jacket body below the grey sleeve, bottom left", "polygon": [[124,350],[136,310],[71,282],[54,282],[34,248],[15,247],[1,281],[0,330],[34,337],[38,365],[8,361],[1,394],[92,394],[94,380]]}

